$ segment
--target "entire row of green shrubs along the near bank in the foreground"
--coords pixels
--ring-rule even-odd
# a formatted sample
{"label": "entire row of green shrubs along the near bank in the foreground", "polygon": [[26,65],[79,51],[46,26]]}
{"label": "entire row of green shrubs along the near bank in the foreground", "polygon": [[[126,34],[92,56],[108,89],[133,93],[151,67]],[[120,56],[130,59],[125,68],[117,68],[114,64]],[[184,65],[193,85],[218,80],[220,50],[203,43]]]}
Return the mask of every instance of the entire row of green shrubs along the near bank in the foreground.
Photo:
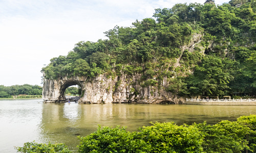
{"label": "entire row of green shrubs along the near bank in the foreground", "polygon": [[255,152],[256,115],[217,124],[174,122],[152,123],[139,132],[126,127],[101,127],[88,136],[78,137],[77,150],[63,143],[26,142],[17,152]]}

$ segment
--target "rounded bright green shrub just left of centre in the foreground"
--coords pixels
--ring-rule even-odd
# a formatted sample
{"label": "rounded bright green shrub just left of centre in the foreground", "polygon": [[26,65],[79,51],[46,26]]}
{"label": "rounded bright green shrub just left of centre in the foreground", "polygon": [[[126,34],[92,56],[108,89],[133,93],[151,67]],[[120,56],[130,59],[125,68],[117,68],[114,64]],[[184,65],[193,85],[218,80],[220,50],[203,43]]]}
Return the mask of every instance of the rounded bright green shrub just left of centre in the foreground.
{"label": "rounded bright green shrub just left of centre in the foreground", "polygon": [[135,132],[127,132],[125,127],[101,129],[99,126],[96,132],[80,137],[78,152],[147,152],[145,142],[134,139],[135,135]]}

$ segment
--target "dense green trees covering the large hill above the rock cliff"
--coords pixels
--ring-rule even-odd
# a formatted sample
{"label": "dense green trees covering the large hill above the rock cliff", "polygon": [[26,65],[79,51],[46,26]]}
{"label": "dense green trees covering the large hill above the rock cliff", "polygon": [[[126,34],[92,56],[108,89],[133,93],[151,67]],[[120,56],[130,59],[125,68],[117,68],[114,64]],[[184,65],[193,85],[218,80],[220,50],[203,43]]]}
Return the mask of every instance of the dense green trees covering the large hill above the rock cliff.
{"label": "dense green trees covering the large hill above the rock cliff", "polygon": [[236,3],[156,9],[154,18],[105,32],[107,40],[78,42],[42,72],[45,79],[141,73],[141,86],[168,78],[166,91],[179,95],[255,95],[256,1]]}

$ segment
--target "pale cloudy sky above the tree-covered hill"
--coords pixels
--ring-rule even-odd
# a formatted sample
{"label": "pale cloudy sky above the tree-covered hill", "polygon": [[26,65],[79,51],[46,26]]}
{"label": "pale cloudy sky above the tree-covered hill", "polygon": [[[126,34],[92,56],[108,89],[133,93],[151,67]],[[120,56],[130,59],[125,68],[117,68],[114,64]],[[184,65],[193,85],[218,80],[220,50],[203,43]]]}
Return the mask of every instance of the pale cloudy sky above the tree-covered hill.
{"label": "pale cloudy sky above the tree-covered hill", "polygon": [[[41,68],[79,41],[106,39],[157,8],[204,0],[0,0],[0,85],[41,85]],[[229,1],[217,1],[216,4]]]}

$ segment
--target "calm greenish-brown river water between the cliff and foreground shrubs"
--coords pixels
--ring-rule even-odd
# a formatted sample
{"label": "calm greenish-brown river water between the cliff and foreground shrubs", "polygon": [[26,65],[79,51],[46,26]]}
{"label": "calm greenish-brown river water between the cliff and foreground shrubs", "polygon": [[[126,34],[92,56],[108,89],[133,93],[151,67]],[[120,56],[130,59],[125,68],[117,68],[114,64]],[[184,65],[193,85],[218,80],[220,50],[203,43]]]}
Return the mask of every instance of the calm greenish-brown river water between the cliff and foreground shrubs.
{"label": "calm greenish-brown river water between the cliff and foreground shrubs", "polygon": [[16,152],[14,146],[35,140],[63,142],[75,150],[77,136],[86,136],[102,126],[127,126],[137,131],[150,122],[177,124],[236,120],[256,114],[256,106],[193,106],[143,104],[44,104],[41,99],[0,100],[0,152]]}

